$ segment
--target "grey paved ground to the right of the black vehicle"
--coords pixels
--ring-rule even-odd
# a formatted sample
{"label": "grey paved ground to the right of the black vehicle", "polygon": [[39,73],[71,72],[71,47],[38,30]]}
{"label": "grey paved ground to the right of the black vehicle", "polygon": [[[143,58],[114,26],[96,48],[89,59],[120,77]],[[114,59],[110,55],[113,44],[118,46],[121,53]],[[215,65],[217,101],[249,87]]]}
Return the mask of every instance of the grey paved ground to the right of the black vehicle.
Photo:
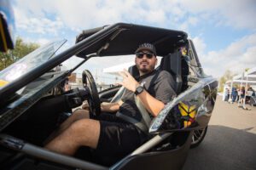
{"label": "grey paved ground to the right of the black vehicle", "polygon": [[255,170],[256,107],[247,107],[251,111],[218,96],[206,138],[189,150],[183,170]]}

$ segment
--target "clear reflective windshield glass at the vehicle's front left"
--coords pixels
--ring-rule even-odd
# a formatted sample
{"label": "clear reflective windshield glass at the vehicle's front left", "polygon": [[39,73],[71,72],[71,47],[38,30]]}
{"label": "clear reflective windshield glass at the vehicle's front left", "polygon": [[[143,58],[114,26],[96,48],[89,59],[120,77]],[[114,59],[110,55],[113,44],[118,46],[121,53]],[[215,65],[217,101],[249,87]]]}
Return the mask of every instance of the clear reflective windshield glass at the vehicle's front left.
{"label": "clear reflective windshield glass at the vehicle's front left", "polygon": [[55,52],[61,48],[65,42],[67,42],[67,40],[49,42],[32,53],[27,54],[14,64],[9,65],[9,67],[3,71],[0,71],[0,91],[7,84],[15,82],[15,80],[21,76],[35,70],[39,65],[43,65],[46,61],[53,58],[55,56]]}

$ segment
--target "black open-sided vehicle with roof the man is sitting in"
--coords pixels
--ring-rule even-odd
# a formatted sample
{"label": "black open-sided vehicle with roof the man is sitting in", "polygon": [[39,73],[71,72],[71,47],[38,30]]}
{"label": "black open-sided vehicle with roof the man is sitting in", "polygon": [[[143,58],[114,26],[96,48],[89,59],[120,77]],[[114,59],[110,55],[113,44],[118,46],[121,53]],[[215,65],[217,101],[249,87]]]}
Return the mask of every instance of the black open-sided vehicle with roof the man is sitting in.
{"label": "black open-sided vehicle with roof the man is sitting in", "polygon": [[[0,72],[1,169],[181,169],[190,147],[201,143],[217,96],[218,82],[205,75],[187,33],[117,23],[83,31],[76,44],[55,54],[63,43],[51,42]],[[75,156],[44,150],[44,142],[72,109],[90,104],[100,114],[102,101],[120,99],[123,88],[97,92],[90,71],[83,71],[84,88],[63,90],[63,82],[88,59],[134,54],[138,44],[153,43],[161,57],[157,69],[176,80],[177,97],[152,120],[152,139],[116,162],[99,162],[86,148]],[[76,55],[82,58],[67,71],[57,65]],[[136,68],[129,69],[132,76]]]}

